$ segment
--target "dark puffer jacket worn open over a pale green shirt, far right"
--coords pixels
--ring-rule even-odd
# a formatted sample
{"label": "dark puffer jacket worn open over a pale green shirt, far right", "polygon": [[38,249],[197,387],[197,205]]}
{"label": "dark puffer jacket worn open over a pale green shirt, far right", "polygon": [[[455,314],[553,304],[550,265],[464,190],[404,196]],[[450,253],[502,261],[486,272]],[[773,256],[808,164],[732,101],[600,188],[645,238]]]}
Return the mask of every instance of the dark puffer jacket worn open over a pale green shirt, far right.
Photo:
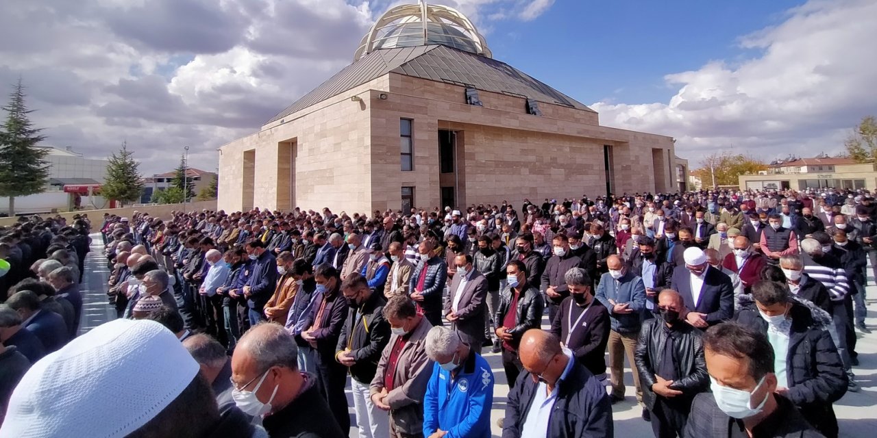
{"label": "dark puffer jacket worn open over a pale green shirt, far right", "polygon": [[[767,321],[750,295],[741,296],[745,307],[737,321],[767,333]],[[792,328],[788,342],[786,397],[804,418],[825,436],[838,436],[838,419],[831,404],[846,393],[847,376],[838,349],[831,341],[831,315],[808,300],[792,297]]]}

